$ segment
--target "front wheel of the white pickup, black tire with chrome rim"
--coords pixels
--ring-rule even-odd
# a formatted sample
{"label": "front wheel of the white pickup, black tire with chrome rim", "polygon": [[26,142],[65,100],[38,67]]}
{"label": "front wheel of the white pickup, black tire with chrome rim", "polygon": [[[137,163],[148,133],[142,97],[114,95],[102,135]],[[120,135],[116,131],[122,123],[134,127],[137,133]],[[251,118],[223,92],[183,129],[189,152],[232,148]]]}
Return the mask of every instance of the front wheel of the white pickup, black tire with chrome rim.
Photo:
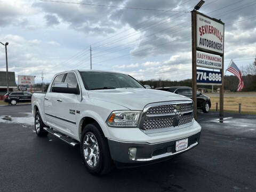
{"label": "front wheel of the white pickup, black tire with chrome rim", "polygon": [[[96,139],[97,143],[95,146],[98,145],[98,148],[94,147],[94,149],[91,150],[91,148],[86,147],[89,145],[85,145],[84,143],[90,143],[89,140],[86,140],[87,138]],[[92,142],[90,146],[93,146]],[[83,162],[90,173],[103,175],[109,173],[113,169],[114,163],[110,156],[108,142],[98,124],[87,124],[84,127],[81,135],[80,151]],[[93,151],[93,154],[96,154],[96,156],[93,156],[93,165],[90,166],[89,157],[85,157],[85,153],[89,156],[92,154],[91,151]],[[97,164],[94,165],[95,160],[97,160]]]}

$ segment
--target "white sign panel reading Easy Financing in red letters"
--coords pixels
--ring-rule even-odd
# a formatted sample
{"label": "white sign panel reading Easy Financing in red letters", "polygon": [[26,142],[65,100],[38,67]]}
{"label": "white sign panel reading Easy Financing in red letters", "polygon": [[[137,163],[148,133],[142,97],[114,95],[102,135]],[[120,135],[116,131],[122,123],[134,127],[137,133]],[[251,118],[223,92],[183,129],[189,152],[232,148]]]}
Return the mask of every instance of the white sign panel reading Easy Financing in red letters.
{"label": "white sign panel reading Easy Financing in red letters", "polygon": [[196,66],[222,69],[222,58],[219,55],[196,51]]}

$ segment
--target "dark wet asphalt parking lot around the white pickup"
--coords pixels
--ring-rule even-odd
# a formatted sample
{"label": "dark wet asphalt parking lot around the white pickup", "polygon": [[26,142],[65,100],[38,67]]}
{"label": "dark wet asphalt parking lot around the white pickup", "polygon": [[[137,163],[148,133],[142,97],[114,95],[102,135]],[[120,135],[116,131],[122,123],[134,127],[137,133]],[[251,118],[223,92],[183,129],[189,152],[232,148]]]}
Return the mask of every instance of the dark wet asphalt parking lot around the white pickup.
{"label": "dark wet asphalt parking lot around the white pickup", "polygon": [[0,191],[256,191],[256,116],[198,114],[201,143],[169,161],[95,177],[79,148],[38,138],[30,105],[0,106]]}

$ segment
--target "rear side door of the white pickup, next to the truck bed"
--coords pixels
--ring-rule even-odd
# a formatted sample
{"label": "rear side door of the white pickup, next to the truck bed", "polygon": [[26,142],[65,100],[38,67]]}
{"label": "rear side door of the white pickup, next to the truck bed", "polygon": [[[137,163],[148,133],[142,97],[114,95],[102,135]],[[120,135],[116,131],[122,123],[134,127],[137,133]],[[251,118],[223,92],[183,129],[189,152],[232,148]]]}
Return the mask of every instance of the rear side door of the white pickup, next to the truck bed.
{"label": "rear side door of the white pickup, next to the truck bed", "polygon": [[60,109],[59,109],[59,102],[57,99],[61,97],[62,93],[55,93],[52,92],[52,86],[55,83],[61,83],[65,77],[65,74],[60,74],[55,76],[53,83],[51,85],[50,91],[45,94],[44,98],[44,113],[45,119],[49,126],[61,130],[60,126]]}

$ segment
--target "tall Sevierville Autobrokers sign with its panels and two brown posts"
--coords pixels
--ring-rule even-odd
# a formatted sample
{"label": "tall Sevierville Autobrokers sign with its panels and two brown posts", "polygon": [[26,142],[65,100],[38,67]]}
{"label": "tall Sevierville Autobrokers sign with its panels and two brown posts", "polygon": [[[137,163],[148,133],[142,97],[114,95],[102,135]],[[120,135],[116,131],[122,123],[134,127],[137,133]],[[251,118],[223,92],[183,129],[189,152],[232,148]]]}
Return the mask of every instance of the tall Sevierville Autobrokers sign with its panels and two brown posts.
{"label": "tall Sevierville Autobrokers sign with its panels and two brown posts", "polygon": [[[194,118],[197,119],[196,86],[220,85],[220,122],[223,122],[224,25],[196,10],[191,11],[192,28],[192,94]],[[197,67],[217,69],[209,71]]]}

